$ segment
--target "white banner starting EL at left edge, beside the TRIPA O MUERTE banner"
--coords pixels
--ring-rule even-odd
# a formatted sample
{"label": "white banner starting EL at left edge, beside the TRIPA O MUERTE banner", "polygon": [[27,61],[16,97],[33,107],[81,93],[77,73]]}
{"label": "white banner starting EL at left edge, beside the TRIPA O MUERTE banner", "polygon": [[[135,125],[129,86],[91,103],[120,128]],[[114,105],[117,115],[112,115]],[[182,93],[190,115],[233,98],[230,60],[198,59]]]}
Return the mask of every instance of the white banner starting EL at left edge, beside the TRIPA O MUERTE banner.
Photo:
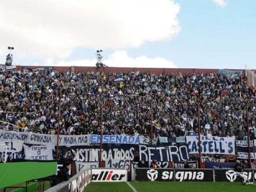
{"label": "white banner starting EL at left edge, beside the TRIPA O MUERTE banner", "polygon": [[[7,157],[13,159],[22,159],[23,141],[0,141],[0,145],[7,146]],[[0,157],[5,159],[5,147],[0,147]]]}

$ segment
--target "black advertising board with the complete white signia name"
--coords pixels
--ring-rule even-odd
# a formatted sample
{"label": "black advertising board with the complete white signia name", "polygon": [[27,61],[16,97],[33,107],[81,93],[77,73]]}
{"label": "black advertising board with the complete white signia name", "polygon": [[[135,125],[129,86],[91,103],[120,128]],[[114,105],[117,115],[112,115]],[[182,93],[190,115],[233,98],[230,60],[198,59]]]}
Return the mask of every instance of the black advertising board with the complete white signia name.
{"label": "black advertising board with the complete white signia name", "polygon": [[213,182],[212,170],[207,169],[145,169],[136,168],[136,181]]}

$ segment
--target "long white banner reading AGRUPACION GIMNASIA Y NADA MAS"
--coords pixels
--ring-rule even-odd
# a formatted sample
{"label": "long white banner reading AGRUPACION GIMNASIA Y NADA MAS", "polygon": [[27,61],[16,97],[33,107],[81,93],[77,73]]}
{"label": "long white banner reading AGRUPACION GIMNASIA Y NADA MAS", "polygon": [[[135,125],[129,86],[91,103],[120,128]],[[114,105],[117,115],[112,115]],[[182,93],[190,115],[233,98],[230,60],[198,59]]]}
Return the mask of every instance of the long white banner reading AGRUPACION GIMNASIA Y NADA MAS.
{"label": "long white banner reading AGRUPACION GIMNASIA Y NADA MAS", "polygon": [[[57,135],[0,130],[0,141],[23,141],[34,145],[57,145]],[[90,135],[60,135],[59,146],[89,146]]]}

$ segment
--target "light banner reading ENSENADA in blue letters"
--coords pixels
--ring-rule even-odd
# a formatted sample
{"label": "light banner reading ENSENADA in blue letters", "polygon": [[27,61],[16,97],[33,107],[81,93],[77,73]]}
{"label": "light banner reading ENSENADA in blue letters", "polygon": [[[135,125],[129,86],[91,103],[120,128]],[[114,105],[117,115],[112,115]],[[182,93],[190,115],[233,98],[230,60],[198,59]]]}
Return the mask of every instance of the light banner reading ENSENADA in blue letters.
{"label": "light banner reading ENSENADA in blue letters", "polygon": [[[102,143],[114,144],[139,144],[139,136],[126,136],[126,135],[103,135]],[[100,143],[100,135],[91,135],[90,143]]]}

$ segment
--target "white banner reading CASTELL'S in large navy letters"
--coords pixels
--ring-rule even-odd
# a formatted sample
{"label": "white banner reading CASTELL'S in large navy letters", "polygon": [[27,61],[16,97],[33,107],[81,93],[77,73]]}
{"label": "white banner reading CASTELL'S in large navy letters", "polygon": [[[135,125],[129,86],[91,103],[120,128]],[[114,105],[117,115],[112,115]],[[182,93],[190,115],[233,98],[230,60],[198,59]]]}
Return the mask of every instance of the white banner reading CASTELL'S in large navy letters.
{"label": "white banner reading CASTELL'S in large navy letters", "polygon": [[[198,154],[198,137],[186,136],[190,154]],[[235,155],[235,137],[201,136],[201,154]]]}

